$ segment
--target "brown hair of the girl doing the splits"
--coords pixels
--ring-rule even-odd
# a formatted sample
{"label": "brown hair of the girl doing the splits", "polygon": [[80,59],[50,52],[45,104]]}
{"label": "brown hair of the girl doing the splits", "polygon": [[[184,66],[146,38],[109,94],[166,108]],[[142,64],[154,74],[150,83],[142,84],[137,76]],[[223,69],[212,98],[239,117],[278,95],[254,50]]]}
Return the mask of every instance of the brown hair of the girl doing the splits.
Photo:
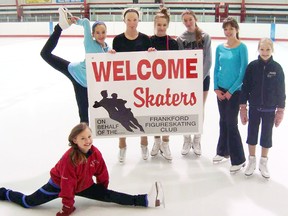
{"label": "brown hair of the girl doing the splits", "polygon": [[72,148],[72,151],[70,153],[70,159],[71,159],[73,165],[75,165],[75,166],[77,166],[81,163],[85,163],[87,161],[85,154],[80,151],[78,145],[75,144],[73,141],[80,133],[82,133],[87,128],[89,128],[87,123],[82,122],[82,123],[76,125],[71,130],[70,135],[68,137],[69,146],[71,146],[71,148]]}

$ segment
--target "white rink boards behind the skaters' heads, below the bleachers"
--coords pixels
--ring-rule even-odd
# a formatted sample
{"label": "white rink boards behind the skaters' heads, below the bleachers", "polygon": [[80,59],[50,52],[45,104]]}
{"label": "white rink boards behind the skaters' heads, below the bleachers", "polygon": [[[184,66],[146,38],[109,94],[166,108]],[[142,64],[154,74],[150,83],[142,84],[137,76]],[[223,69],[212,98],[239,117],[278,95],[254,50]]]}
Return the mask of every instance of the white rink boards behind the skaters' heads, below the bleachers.
{"label": "white rink boards behind the skaters' heads, below the bleachers", "polygon": [[[57,23],[53,23],[53,26]],[[123,22],[106,22],[108,35],[113,37],[122,33],[125,29]],[[259,39],[270,37],[270,24],[240,23],[240,37],[242,39]],[[206,31],[212,38],[223,38],[221,23],[198,22],[198,26]],[[153,35],[152,22],[140,22],[139,31]],[[0,37],[22,37],[22,36],[48,36],[50,34],[49,22],[23,22],[23,23],[0,23]],[[170,23],[168,34],[178,36],[185,30],[181,22]],[[276,40],[288,41],[288,24],[276,24]],[[63,35],[82,36],[83,29],[80,26],[73,25],[63,32]]]}

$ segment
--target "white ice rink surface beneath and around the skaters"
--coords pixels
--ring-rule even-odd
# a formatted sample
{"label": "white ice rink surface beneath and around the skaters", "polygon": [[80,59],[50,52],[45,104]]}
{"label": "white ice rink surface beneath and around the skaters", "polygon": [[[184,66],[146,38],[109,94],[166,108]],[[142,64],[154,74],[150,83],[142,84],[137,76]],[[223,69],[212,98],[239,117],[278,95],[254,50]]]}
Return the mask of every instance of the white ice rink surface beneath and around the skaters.
{"label": "white ice rink surface beneath and around the skaters", "polygon": [[[30,194],[45,184],[49,171],[68,149],[67,137],[79,122],[74,91],[70,81],[40,57],[47,38],[0,38],[0,187]],[[61,38],[55,54],[70,60],[84,58],[82,38]],[[111,39],[107,40],[111,45]],[[223,41],[213,40],[215,48]],[[249,61],[257,58],[257,42],[244,41]],[[274,59],[288,71],[288,45],[275,43]],[[213,58],[214,61],[214,58]],[[213,75],[213,66],[211,69]],[[286,74],[286,86],[287,86]],[[287,89],[287,88],[286,88]],[[286,91],[287,92],[287,91]],[[287,93],[286,93],[287,94]],[[118,139],[95,139],[110,173],[109,188],[121,192],[147,193],[155,180],[161,181],[165,208],[135,208],[76,198],[73,215],[125,216],[287,216],[288,212],[288,142],[287,113],[274,129],[273,148],[269,153],[271,179],[263,179],[258,168],[246,178],[243,170],[229,173],[230,162],[213,164],[218,140],[219,114],[213,92],[213,76],[206,103],[202,156],[190,152],[181,155],[182,136],[170,137],[172,163],[161,156],[141,158],[139,138],[127,138],[126,163],[118,162]],[[247,154],[247,126],[239,123]],[[153,137],[149,137],[149,149]],[[257,163],[260,147],[257,148]],[[61,199],[23,209],[0,201],[0,215],[55,215]]]}

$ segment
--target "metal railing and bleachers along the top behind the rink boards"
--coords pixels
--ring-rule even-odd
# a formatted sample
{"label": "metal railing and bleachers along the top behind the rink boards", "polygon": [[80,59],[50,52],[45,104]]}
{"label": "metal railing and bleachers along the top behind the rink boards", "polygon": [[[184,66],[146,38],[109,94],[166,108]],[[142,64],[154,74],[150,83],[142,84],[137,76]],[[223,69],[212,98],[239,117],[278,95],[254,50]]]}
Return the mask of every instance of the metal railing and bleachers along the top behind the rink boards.
{"label": "metal railing and bleachers along the top behind the rink boards", "polygon": [[[221,20],[215,12],[218,3],[185,3],[165,4],[170,9],[171,21],[180,22],[181,13],[186,9],[193,10],[200,22],[215,22]],[[220,4],[220,3],[219,3]],[[240,3],[228,4],[228,14],[239,19],[243,15]],[[63,4],[61,4],[63,5]],[[122,11],[124,8],[137,7],[140,9],[142,21],[153,21],[155,13],[158,11],[160,4],[88,4],[88,13],[84,9],[83,3],[67,4],[66,7],[78,17],[87,17],[90,20],[103,21],[121,21]],[[21,5],[19,8],[15,5],[0,5],[0,22],[49,22],[58,21],[59,4],[41,4],[41,5]],[[272,8],[272,9],[271,9]],[[221,14],[220,14],[221,15]],[[218,16],[220,16],[218,15]],[[288,4],[247,4],[245,6],[246,23],[288,23]]]}

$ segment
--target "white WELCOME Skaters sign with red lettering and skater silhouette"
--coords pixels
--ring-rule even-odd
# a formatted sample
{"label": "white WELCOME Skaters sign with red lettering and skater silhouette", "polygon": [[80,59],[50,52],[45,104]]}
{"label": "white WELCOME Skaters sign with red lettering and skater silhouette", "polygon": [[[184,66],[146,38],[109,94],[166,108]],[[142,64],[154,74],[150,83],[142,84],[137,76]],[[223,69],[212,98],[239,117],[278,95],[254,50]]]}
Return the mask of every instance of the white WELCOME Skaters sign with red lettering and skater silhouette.
{"label": "white WELCOME Skaters sign with red lettering and skater silhouette", "polygon": [[86,54],[93,135],[202,133],[203,52]]}

